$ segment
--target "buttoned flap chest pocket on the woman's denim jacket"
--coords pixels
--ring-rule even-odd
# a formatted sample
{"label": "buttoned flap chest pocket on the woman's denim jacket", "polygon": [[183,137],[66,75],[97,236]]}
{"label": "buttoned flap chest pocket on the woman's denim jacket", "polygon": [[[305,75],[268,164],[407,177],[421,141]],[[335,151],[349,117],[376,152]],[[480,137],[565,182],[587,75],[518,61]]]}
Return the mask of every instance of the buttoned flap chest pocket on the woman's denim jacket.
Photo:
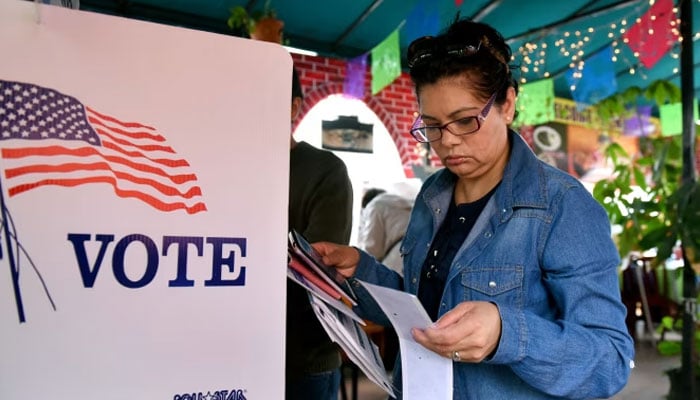
{"label": "buttoned flap chest pocket on the woman's denim jacket", "polygon": [[493,301],[521,307],[523,274],[521,265],[465,269],[462,271],[464,299]]}

